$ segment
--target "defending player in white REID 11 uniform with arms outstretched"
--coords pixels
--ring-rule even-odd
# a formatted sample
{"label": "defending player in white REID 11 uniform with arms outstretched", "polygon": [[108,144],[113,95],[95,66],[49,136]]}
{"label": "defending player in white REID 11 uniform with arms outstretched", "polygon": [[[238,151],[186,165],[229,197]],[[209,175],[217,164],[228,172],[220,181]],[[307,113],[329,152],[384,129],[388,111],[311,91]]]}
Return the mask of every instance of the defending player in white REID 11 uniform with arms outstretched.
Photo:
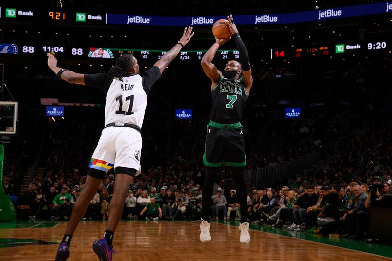
{"label": "defending player in white REID 11 uniform with arms outstretched", "polygon": [[129,185],[133,182],[134,176],[140,173],[140,128],[143,124],[148,92],[193,35],[192,27],[185,28],[177,44],[153,67],[141,74],[138,61],[129,54],[117,58],[109,74],[80,74],[62,69],[57,67],[57,59],[52,54],[47,54],[48,66],[59,78],[70,83],[92,85],[107,93],[105,128],[91,158],[86,184],[73,207],[63,241],[58,247],[56,261],[65,261],[69,257],[73,233],[86,212],[88,203],[97,193],[106,172],[114,168],[116,183],[106,231],[103,238],[93,243],[93,250],[100,260],[112,260],[113,235],[123,212]]}

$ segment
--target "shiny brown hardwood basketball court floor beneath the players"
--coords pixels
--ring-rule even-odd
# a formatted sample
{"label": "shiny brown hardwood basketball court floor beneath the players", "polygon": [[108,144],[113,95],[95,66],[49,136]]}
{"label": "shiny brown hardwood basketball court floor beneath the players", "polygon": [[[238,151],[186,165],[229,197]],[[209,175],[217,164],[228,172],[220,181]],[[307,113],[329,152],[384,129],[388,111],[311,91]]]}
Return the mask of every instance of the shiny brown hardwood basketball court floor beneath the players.
{"label": "shiny brown hardwood basketball court floor beneath the players", "polygon": [[[232,222],[231,224],[235,223]],[[66,222],[30,222],[28,226],[17,222],[16,226],[14,225],[15,228],[6,228],[7,226],[0,225],[0,260],[53,261],[57,245],[63,237],[66,225]],[[98,260],[98,257],[92,251],[91,244],[102,236],[105,225],[105,222],[81,222],[72,238],[71,255],[68,260]],[[238,226],[225,222],[212,222],[212,241],[201,243],[199,241],[200,227],[197,221],[120,222],[114,238],[114,249],[119,255],[114,255],[113,259],[115,261],[381,261],[391,259],[379,255],[392,256],[392,247],[389,246],[380,247],[380,245],[363,243],[364,246],[367,245],[370,248],[374,246],[376,253],[381,251],[379,255],[373,255],[319,242],[258,231],[256,226],[251,227],[255,228],[249,230],[251,242],[242,244],[239,241],[240,231]],[[279,231],[283,232],[282,230]],[[339,239],[342,242],[350,240],[336,238],[336,240]],[[8,244],[5,244],[4,240]],[[53,244],[38,244],[38,241],[35,240],[43,240]],[[391,252],[385,253],[386,251]]]}

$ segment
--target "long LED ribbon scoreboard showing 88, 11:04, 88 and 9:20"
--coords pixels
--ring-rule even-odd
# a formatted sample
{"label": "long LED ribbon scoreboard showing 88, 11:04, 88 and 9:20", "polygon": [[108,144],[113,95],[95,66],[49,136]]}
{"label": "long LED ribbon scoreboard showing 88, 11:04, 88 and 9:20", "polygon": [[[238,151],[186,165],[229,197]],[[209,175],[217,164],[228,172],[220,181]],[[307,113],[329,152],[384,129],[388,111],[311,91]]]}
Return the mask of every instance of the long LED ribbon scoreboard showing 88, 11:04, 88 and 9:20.
{"label": "long LED ribbon scoreboard showing 88, 11:04, 88 and 9:20", "polygon": [[[155,62],[162,58],[168,50],[153,49],[127,49],[117,47],[105,47],[91,44],[90,47],[80,45],[39,45],[31,43],[0,43],[0,58],[4,56],[16,55],[34,61],[39,57],[45,57],[46,53],[53,53],[61,59],[67,59],[70,62],[78,61],[78,63],[91,63],[116,59],[123,54],[132,54],[137,59]],[[257,64],[261,59],[270,59],[276,62],[302,61],[306,59],[323,59],[332,57],[346,57],[347,55],[356,56],[364,55],[371,57],[376,54],[391,54],[392,46],[388,40],[368,41],[361,44],[358,43],[338,43],[325,46],[312,47],[279,47],[264,49],[249,49],[251,53],[251,63]],[[187,50],[183,48],[175,60],[180,62],[200,62],[207,50]],[[102,60],[103,59],[103,60]],[[235,49],[218,49],[215,54],[215,62],[226,62],[228,60],[241,60],[238,50]]]}

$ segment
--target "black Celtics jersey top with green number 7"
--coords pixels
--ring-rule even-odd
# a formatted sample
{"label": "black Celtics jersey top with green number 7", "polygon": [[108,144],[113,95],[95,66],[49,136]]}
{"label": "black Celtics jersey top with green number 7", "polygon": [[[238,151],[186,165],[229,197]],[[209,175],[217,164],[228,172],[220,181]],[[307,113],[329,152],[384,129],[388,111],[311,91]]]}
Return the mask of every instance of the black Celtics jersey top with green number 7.
{"label": "black Celtics jersey top with green number 7", "polygon": [[212,105],[210,119],[221,124],[240,122],[247,94],[242,78],[233,81],[221,77],[211,91]]}

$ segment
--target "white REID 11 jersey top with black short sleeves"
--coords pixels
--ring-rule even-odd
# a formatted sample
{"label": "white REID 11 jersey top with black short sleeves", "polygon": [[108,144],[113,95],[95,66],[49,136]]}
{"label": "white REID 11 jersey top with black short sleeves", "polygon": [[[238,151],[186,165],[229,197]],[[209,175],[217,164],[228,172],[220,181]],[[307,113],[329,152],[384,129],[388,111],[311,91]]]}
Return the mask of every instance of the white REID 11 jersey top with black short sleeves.
{"label": "white REID 11 jersey top with black short sleeves", "polygon": [[142,128],[147,95],[159,77],[159,68],[152,67],[140,75],[123,77],[123,81],[105,73],[85,74],[85,84],[107,92],[105,126],[110,123],[129,123]]}

